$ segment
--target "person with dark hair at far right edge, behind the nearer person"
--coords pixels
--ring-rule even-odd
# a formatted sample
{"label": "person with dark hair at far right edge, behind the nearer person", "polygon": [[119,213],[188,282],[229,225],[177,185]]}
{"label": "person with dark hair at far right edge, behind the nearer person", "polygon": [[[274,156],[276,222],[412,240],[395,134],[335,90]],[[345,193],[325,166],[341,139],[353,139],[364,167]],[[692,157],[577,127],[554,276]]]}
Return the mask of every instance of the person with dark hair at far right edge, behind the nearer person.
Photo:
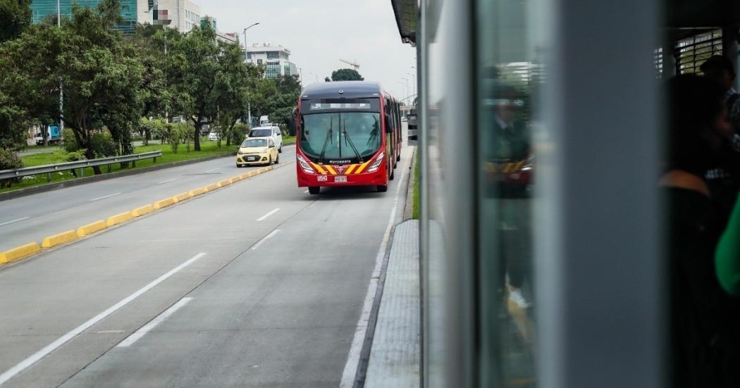
{"label": "person with dark hair at far right edge, behind the nearer person", "polygon": [[724,103],[733,132],[731,142],[724,142],[718,152],[717,166],[706,173],[707,186],[721,212],[721,222],[726,222],[740,190],[740,94],[733,87],[735,67],[729,59],[715,55],[700,67],[704,76],[719,84],[724,90]]}

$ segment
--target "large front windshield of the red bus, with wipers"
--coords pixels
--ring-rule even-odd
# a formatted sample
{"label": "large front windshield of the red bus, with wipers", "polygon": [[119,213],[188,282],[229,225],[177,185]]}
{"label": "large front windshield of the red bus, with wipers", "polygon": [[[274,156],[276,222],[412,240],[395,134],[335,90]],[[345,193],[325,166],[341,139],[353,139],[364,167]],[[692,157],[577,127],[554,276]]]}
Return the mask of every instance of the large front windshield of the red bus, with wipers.
{"label": "large front windshield of the red bus, with wipers", "polygon": [[299,144],[306,156],[315,161],[367,160],[380,149],[380,113],[332,112],[303,115]]}

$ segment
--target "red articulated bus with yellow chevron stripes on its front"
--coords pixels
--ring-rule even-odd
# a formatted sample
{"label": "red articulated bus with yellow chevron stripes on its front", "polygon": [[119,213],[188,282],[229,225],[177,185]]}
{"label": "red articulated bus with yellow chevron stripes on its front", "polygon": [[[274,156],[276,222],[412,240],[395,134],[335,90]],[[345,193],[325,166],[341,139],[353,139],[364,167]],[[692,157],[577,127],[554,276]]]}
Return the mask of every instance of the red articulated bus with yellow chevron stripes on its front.
{"label": "red articulated bus with yellow chevron stripes on its front", "polygon": [[401,156],[398,101],[380,84],[327,82],[307,86],[298,99],[298,187],[375,186],[387,191]]}

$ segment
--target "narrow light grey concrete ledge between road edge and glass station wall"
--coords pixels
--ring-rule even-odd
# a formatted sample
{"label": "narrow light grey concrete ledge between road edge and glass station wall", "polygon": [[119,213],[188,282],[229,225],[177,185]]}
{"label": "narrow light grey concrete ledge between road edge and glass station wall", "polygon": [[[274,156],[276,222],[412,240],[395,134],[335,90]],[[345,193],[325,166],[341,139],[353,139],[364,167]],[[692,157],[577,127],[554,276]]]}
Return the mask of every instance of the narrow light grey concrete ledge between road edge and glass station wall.
{"label": "narrow light grey concrete ledge between road edge and glass station wall", "polygon": [[419,221],[396,226],[365,387],[420,386]]}

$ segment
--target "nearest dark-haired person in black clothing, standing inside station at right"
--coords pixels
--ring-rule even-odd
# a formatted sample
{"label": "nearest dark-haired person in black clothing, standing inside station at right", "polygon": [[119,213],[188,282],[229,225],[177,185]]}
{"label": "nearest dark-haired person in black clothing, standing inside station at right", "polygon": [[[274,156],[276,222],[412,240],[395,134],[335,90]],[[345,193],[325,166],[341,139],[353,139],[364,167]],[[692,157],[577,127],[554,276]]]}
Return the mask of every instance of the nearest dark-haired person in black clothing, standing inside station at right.
{"label": "nearest dark-haired person in black clothing, standing inside station at right", "polygon": [[667,200],[669,387],[740,387],[740,304],[721,290],[713,251],[721,225],[705,172],[732,133],[724,90],[680,75],[668,84]]}

